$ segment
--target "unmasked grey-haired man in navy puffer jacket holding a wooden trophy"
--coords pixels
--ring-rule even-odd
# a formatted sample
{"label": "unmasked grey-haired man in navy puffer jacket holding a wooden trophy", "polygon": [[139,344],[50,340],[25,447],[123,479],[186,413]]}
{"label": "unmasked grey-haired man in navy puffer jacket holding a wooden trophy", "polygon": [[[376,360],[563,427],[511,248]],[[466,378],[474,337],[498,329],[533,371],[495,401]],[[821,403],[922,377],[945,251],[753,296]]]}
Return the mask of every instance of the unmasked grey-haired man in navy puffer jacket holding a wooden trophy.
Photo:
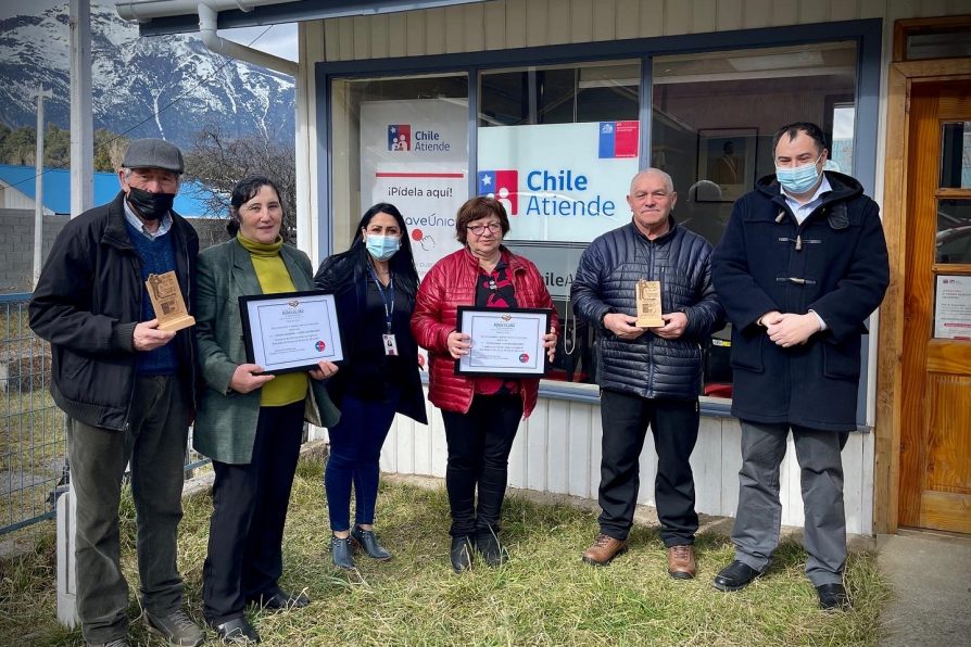
{"label": "unmasked grey-haired man in navy puffer jacket holding a wooden trophy", "polygon": [[[631,180],[631,223],[583,252],[570,299],[578,317],[600,331],[598,383],[603,452],[600,534],[583,554],[604,566],[627,549],[640,486],[638,457],[647,426],[659,457],[655,499],[668,573],[695,574],[694,477],[689,458],[698,436],[702,342],[724,312],[711,284],[711,245],[671,216],[671,177],[648,168]],[[636,326],[640,279],[660,282],[664,326]]]}

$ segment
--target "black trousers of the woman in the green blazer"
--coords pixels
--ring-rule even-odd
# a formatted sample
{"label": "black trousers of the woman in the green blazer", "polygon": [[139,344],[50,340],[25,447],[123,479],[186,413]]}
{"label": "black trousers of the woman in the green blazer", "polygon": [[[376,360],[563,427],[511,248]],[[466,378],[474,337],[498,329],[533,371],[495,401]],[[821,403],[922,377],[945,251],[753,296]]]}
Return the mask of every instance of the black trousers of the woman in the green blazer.
{"label": "black trousers of the woman in the green blazer", "polygon": [[300,457],[303,401],[262,407],[250,462],[213,460],[213,516],[202,568],[205,619],[239,618],[283,572],[283,524]]}

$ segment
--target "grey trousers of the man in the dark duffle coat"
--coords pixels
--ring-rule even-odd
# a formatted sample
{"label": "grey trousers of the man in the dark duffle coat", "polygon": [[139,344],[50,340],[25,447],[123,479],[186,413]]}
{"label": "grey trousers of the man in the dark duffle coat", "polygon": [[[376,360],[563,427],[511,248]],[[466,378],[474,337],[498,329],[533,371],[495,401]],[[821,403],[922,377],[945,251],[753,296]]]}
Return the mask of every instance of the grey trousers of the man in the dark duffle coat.
{"label": "grey trousers of the man in the dark duffle coat", "polygon": [[[742,420],[742,469],[739,511],[732,529],[735,559],[764,572],[779,545],[782,504],[779,466],[785,456],[787,423]],[[846,566],[846,512],[843,508],[843,460],[846,432],[792,427],[799,461],[805,508],[803,545],[809,558],[806,575],[814,586],[843,581]]]}

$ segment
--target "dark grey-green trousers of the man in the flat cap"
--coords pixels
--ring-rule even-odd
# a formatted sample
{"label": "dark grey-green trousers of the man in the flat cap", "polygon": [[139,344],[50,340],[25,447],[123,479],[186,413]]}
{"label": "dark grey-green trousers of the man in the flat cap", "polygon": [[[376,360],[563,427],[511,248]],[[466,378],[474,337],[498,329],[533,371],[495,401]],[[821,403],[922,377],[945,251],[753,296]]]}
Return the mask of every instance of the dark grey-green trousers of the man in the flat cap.
{"label": "dark grey-green trousers of the man in the flat cap", "polygon": [[89,643],[108,643],[128,632],[118,505],[129,460],[142,606],[165,616],[182,604],[176,533],[182,518],[189,406],[181,392],[175,377],[140,377],[127,431],[68,423],[67,456],[77,497],[77,612]]}

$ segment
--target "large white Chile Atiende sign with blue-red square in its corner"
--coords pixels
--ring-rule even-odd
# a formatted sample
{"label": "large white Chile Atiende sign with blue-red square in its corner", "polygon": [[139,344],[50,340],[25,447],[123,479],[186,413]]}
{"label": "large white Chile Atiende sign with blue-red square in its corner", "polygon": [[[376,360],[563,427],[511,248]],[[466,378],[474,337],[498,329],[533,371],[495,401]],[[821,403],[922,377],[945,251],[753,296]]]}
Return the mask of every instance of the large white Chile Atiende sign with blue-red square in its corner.
{"label": "large white Chile Atiende sign with blue-red square in its corner", "polygon": [[477,192],[502,201],[509,239],[590,242],[630,221],[638,122],[479,128]]}

